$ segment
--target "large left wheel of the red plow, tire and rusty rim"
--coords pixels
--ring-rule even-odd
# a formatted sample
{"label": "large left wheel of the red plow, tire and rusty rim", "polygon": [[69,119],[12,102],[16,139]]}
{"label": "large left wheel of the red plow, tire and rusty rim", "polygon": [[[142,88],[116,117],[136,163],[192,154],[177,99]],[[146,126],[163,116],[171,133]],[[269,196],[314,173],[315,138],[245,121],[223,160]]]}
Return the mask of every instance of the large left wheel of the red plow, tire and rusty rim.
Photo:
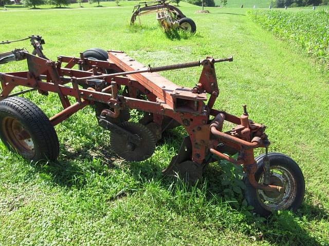
{"label": "large left wheel of the red plow, tire and rusty rim", "polygon": [[22,97],[0,101],[0,138],[5,146],[33,161],[56,160],[59,141],[42,110]]}

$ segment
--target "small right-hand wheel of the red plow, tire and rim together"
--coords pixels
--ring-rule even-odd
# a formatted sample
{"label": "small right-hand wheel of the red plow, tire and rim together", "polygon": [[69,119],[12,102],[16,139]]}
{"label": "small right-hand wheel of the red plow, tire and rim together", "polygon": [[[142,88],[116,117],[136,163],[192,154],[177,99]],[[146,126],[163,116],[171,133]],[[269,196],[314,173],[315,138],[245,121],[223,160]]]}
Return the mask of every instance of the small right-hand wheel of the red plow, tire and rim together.
{"label": "small right-hand wheel of the red plow, tire and rim together", "polygon": [[[259,183],[264,182],[265,155],[260,155],[257,161],[255,179]],[[297,163],[290,157],[280,153],[269,153],[270,160],[270,185],[281,186],[283,193],[269,192],[255,189],[251,186],[248,178],[244,178],[246,185],[245,198],[249,205],[254,207],[254,212],[261,216],[268,216],[271,211],[291,209],[296,211],[305,193],[304,176]]]}

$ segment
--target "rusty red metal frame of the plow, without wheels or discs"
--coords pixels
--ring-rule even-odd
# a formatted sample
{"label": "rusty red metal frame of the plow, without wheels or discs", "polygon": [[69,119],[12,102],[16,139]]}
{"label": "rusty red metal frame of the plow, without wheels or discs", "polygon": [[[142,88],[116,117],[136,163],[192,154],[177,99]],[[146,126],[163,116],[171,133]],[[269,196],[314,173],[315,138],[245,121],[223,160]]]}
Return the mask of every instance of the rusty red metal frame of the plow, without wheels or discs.
{"label": "rusty red metal frame of the plow, without wheels or discs", "polygon": [[[257,189],[280,190],[281,187],[260,185],[254,179],[256,170],[253,149],[267,147],[269,141],[264,133],[265,127],[248,119],[245,110],[241,117],[212,109],[218,96],[218,85],[214,64],[219,61],[207,57],[194,63],[147,68],[121,51],[108,51],[108,60],[93,60],[83,57],[58,56],[54,62],[29,53],[25,53],[28,71],[0,73],[2,91],[0,100],[10,96],[17,86],[38,90],[47,95],[57,93],[63,105],[63,111],[50,118],[57,125],[69,116],[95,102],[106,104],[114,110],[104,110],[102,114],[118,117],[121,110],[137,109],[153,114],[153,122],[161,127],[164,117],[176,120],[184,126],[192,145],[191,159],[198,165],[204,165],[209,153],[227,159],[236,165],[244,165],[249,181]],[[79,65],[84,71],[72,69]],[[160,76],[156,71],[203,66],[198,84],[194,88],[180,87]],[[111,69],[114,74],[106,74]],[[102,87],[90,85],[93,79],[101,79]],[[80,87],[79,87],[80,86]],[[84,88],[82,89],[81,86]],[[129,88],[129,96],[119,95],[121,86]],[[138,92],[147,96],[138,99]],[[210,98],[207,103],[207,93]],[[70,105],[68,97],[76,98]],[[207,104],[206,104],[207,103]],[[211,120],[210,117],[214,116]],[[229,132],[222,132],[224,121],[236,126]],[[237,160],[221,153],[216,148],[223,143],[239,152]]]}

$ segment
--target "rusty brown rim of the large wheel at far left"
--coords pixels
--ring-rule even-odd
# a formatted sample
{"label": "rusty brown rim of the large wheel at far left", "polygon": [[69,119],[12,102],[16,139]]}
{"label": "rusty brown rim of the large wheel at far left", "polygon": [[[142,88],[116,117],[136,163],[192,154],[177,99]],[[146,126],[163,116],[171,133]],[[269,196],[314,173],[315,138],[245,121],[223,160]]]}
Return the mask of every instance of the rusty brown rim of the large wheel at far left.
{"label": "rusty brown rim of the large wheel at far left", "polygon": [[35,155],[34,142],[21,122],[13,117],[7,116],[3,119],[2,123],[2,130],[8,144],[19,154],[27,158],[33,158]]}

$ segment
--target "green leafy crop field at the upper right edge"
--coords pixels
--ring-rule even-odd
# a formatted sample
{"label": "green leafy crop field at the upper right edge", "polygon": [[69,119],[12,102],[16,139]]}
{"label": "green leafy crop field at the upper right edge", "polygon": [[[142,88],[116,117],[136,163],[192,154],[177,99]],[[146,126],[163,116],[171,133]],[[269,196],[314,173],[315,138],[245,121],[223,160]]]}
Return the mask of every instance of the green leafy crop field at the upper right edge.
{"label": "green leafy crop field at the upper right edge", "polygon": [[250,11],[263,28],[329,68],[329,12]]}

